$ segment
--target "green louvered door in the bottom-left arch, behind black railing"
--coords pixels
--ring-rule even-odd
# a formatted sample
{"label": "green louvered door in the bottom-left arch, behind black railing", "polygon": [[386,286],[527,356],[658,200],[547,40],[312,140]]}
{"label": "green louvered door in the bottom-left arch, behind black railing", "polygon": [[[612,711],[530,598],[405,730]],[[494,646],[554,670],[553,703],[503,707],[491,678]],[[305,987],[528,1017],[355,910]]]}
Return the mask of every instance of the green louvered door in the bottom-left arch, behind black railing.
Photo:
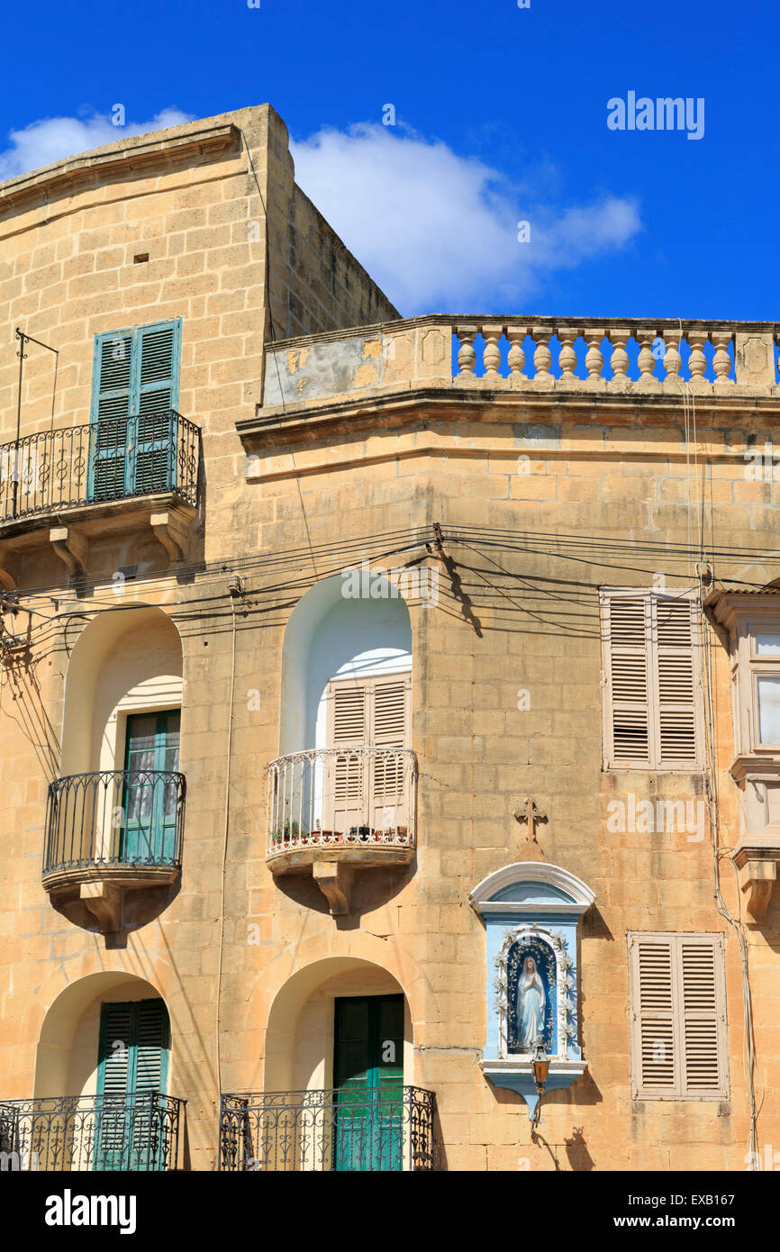
{"label": "green louvered door in the bottom-left arch, behind black railing", "polygon": [[164,1169],[153,1094],[168,1083],[170,1024],[163,1000],[101,1004],[95,1169]]}

